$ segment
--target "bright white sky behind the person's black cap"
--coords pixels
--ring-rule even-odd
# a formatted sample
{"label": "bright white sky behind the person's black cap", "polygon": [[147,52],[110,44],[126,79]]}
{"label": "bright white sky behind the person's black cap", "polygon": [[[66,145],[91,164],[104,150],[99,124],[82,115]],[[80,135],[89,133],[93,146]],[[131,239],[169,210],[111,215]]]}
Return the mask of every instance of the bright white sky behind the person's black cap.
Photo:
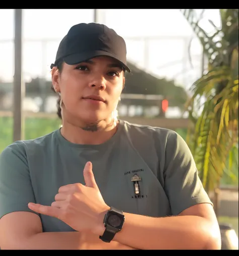
{"label": "bright white sky behind the person's black cap", "polygon": [[[212,31],[211,19],[220,26],[218,9],[206,11],[202,28]],[[23,74],[49,78],[59,41],[72,25],[93,22],[93,9],[23,10]],[[113,28],[126,40],[128,60],[156,76],[175,78],[186,87],[200,75],[201,46],[193,40],[188,61],[188,43],[193,31],[178,9],[100,9],[98,22]],[[0,78],[12,81],[14,74],[14,10],[0,9]],[[148,41],[144,37],[157,37]],[[133,39],[133,37],[137,37]],[[44,47],[42,39],[47,39]],[[51,41],[50,41],[51,40]],[[184,66],[183,66],[184,65]],[[186,70],[184,70],[186,69]]]}

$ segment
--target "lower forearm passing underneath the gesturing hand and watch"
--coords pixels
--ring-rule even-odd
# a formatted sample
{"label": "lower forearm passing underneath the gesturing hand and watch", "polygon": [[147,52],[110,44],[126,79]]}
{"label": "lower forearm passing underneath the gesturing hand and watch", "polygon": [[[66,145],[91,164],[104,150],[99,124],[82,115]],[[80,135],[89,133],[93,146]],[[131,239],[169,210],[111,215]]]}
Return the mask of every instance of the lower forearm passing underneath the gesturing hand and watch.
{"label": "lower forearm passing underneath the gesturing hand and watch", "polygon": [[133,249],[120,242],[105,243],[99,236],[80,232],[43,232],[32,235],[16,249]]}

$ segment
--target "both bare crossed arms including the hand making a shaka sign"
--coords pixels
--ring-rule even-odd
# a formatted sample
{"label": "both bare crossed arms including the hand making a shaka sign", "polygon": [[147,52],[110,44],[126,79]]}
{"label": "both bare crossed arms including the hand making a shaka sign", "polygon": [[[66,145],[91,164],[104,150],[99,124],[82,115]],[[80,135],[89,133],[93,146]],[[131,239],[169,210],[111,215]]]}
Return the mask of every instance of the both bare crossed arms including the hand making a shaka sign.
{"label": "both bare crossed arms including the hand making a shaka sign", "polygon": [[199,203],[179,216],[153,218],[125,213],[122,231],[104,243],[104,202],[92,172],[84,169],[86,185],[59,188],[51,206],[29,204],[39,214],[64,221],[79,232],[42,233],[40,218],[33,212],[12,212],[0,220],[0,246],[16,249],[220,249],[217,219],[209,203]]}

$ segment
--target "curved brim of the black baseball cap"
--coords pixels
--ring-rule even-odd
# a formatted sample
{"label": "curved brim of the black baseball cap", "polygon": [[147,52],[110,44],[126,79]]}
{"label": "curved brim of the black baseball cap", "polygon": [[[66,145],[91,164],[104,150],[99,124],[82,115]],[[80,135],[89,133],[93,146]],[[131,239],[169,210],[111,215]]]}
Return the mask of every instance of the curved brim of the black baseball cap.
{"label": "curved brim of the black baseball cap", "polygon": [[122,66],[128,71],[131,72],[131,70],[129,69],[129,67],[123,63],[121,60],[119,60],[117,57],[115,57],[113,54],[110,54],[108,52],[104,52],[104,51],[93,51],[90,53],[79,53],[79,54],[72,54],[72,55],[68,55],[66,57],[64,57],[64,61],[69,64],[69,65],[75,65],[78,63],[81,63],[83,61],[95,58],[95,57],[99,57],[99,56],[109,56],[115,60],[117,60],[118,62],[120,62],[122,64]]}

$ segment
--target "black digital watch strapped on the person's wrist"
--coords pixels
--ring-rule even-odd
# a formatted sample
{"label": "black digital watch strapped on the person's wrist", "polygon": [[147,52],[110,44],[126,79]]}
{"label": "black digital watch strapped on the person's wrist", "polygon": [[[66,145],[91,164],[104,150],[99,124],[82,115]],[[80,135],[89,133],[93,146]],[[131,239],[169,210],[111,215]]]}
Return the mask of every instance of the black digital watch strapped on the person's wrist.
{"label": "black digital watch strapped on the person's wrist", "polygon": [[123,211],[110,207],[103,220],[105,231],[99,238],[102,241],[109,243],[113,239],[114,235],[121,231],[124,222],[125,216],[123,215]]}

